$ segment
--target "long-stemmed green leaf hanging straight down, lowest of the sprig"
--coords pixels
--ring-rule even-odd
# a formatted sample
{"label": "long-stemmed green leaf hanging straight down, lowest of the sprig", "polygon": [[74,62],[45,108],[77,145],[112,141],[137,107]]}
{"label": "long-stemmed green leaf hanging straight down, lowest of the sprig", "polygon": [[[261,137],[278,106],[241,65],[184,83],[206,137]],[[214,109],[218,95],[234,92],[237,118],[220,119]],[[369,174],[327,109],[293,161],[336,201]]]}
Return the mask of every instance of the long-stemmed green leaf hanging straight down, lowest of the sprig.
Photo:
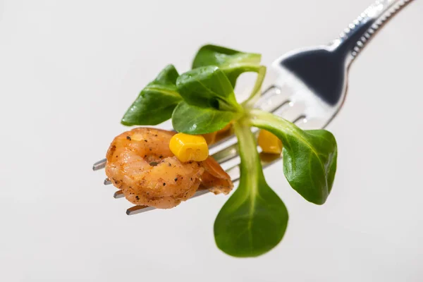
{"label": "long-stemmed green leaf hanging straight down, lowest of the sprig", "polygon": [[234,126],[240,147],[240,184],[216,217],[214,238],[228,255],[257,257],[282,240],[288,211],[264,180],[249,126]]}

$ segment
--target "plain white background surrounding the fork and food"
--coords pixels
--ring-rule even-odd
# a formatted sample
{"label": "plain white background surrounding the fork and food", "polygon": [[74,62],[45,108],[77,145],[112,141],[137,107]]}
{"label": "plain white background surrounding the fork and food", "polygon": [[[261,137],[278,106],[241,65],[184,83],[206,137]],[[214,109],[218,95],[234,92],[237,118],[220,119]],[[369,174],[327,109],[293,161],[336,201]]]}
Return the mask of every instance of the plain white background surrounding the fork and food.
{"label": "plain white background surrounding the fork and food", "polygon": [[209,42],[263,54],[329,42],[355,1],[1,1],[0,281],[422,281],[423,3],[355,61],[329,126],[338,173],[305,202],[266,170],[290,212],[282,243],[255,259],[219,251],[225,202],[207,195],[126,216],[92,172],[142,87],[183,72]]}

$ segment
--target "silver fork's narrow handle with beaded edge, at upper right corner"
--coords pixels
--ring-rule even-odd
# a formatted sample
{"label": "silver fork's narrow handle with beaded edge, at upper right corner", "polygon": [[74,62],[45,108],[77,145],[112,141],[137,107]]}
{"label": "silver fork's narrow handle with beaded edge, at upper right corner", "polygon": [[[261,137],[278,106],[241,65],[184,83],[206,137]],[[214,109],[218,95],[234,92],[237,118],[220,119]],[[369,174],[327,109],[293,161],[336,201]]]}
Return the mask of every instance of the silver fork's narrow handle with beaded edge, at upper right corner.
{"label": "silver fork's narrow handle with beaded edge, at upper right corner", "polygon": [[350,65],[376,32],[412,1],[376,1],[341,32],[338,39],[333,42],[333,47],[347,56],[347,64]]}

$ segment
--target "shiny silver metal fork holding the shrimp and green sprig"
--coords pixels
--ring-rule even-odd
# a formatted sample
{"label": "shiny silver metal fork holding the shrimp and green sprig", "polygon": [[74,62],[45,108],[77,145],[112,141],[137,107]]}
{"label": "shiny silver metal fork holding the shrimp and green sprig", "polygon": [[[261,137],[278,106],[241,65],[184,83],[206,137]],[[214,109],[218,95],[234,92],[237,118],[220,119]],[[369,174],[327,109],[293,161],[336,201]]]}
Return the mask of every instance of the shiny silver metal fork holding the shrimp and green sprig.
{"label": "shiny silver metal fork holding the shrimp and green sprig", "polygon": [[[282,116],[300,128],[325,128],[343,106],[348,86],[348,71],[360,51],[376,32],[398,11],[413,0],[376,1],[350,23],[333,42],[290,51],[272,63],[274,83],[262,92],[255,107]],[[257,128],[252,129],[257,133]],[[259,149],[259,148],[257,148]],[[226,169],[233,182],[240,178],[240,159],[235,136],[231,135],[210,146],[211,154],[222,166],[233,163]],[[262,167],[266,168],[281,159],[280,155],[260,154]],[[106,166],[106,159],[97,161],[92,169]],[[104,185],[110,185],[106,178]],[[197,190],[193,197],[204,195],[209,190]],[[118,190],[115,198],[121,198]],[[154,207],[133,206],[126,214],[147,212]]]}

